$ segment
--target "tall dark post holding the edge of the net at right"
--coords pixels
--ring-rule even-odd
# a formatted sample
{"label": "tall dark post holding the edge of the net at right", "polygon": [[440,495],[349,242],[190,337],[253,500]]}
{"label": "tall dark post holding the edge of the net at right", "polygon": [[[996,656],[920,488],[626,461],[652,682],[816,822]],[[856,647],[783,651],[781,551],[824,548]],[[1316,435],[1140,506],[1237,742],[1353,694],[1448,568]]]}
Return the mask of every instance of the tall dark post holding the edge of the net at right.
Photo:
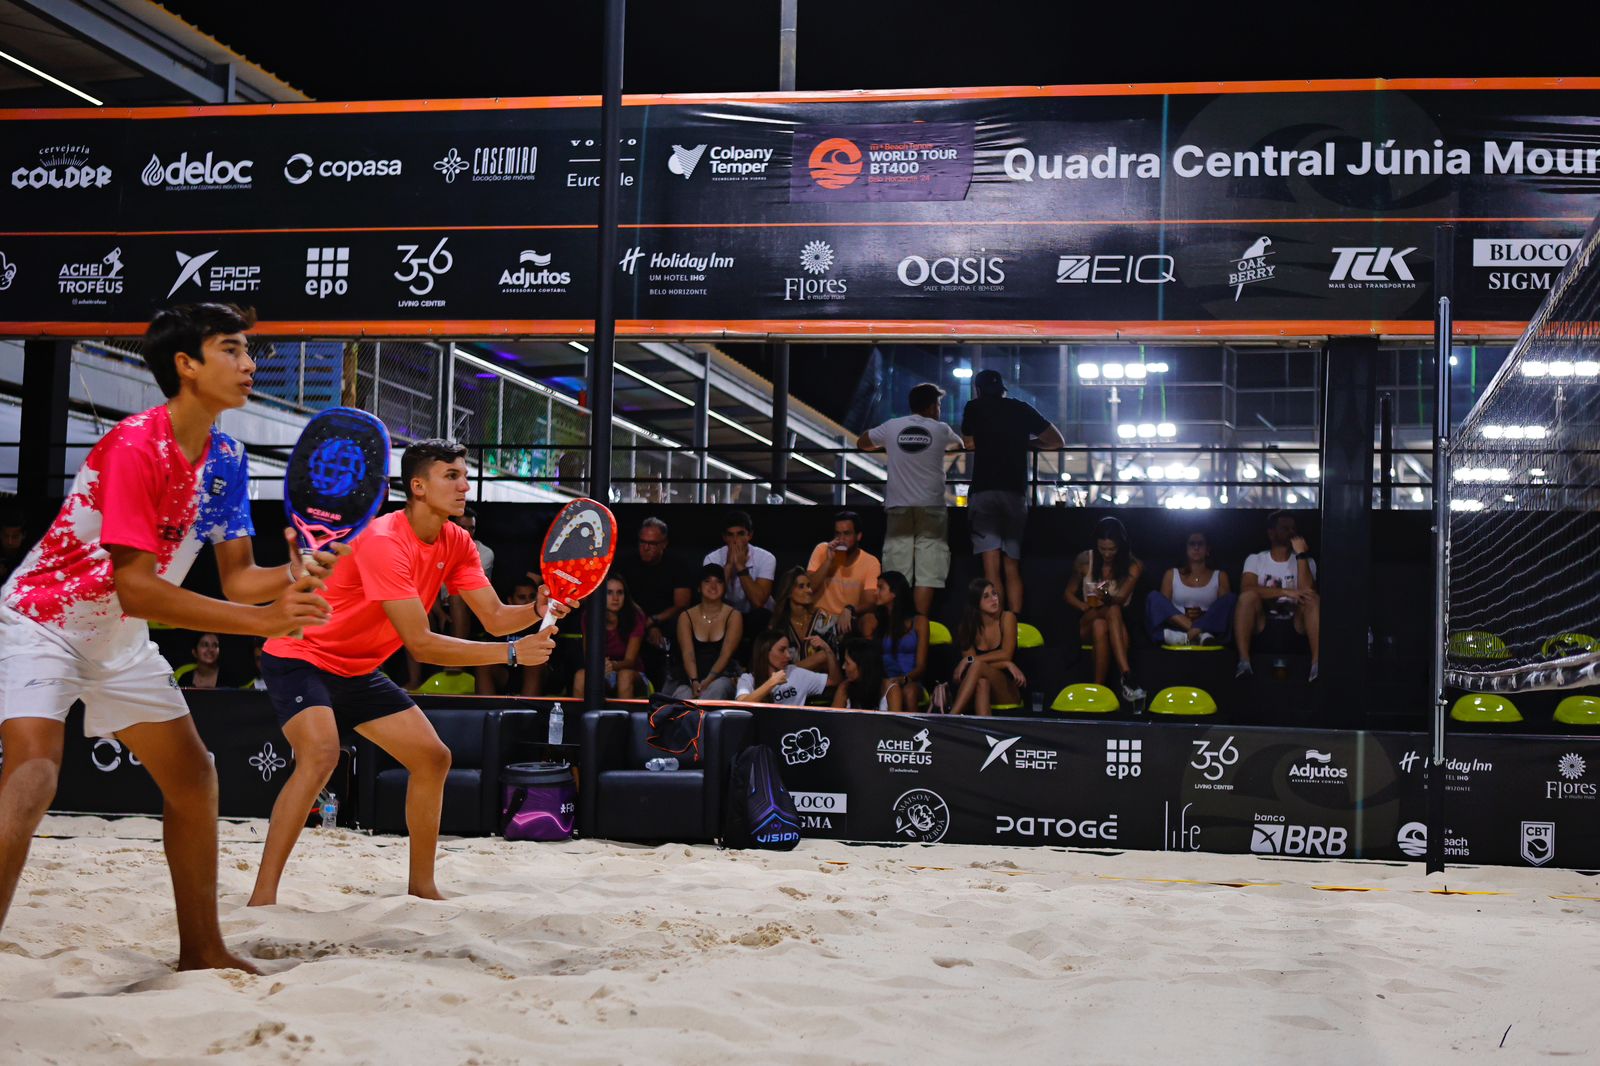
{"label": "tall dark post holding the edge of the net at right", "polygon": [[1456,229],[1440,226],[1434,234],[1434,717],[1432,755],[1424,776],[1427,789],[1426,872],[1445,869],[1445,647],[1450,600],[1450,349],[1451,290],[1454,288]]}

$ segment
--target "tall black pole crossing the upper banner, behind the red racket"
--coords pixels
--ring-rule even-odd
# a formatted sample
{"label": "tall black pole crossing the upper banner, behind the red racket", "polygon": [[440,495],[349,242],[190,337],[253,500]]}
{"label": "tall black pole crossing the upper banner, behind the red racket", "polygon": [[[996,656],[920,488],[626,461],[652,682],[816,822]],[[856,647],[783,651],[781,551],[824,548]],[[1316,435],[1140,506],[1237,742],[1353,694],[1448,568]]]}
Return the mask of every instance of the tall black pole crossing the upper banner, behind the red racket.
{"label": "tall black pole crossing the upper banner, behind the red racket", "polygon": [[[611,399],[616,376],[616,219],[622,184],[622,29],[627,0],[605,0],[602,46],[605,83],[600,96],[600,234],[595,259],[595,343],[589,349],[589,491],[611,496]],[[584,655],[584,706],[605,703],[605,597],[584,603],[590,639]]]}

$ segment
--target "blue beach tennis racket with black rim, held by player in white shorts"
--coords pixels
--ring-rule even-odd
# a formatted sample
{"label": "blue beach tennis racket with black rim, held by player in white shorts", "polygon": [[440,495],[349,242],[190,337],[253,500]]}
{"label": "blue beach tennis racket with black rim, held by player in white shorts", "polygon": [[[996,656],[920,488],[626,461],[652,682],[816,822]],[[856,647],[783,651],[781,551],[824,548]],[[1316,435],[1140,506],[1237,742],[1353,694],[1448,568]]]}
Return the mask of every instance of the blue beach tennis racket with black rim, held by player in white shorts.
{"label": "blue beach tennis racket with black rim, held by player in white shorts", "polygon": [[301,431],[283,471],[283,509],[310,554],[347,541],[389,496],[389,429],[354,407],[330,407]]}

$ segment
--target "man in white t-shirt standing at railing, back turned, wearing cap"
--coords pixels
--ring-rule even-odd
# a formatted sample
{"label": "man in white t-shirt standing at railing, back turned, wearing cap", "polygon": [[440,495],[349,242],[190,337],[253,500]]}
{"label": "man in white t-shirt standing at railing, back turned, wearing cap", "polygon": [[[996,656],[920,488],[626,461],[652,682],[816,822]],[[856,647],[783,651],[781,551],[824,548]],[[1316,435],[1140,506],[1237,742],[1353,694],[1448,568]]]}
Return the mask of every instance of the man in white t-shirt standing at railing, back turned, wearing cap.
{"label": "man in white t-shirt standing at railing, back turned, wearing cap", "polygon": [[933,594],[950,573],[944,455],[962,450],[962,435],[939,421],[942,400],[944,389],[925,381],[910,391],[910,415],[891,418],[856,439],[858,448],[883,451],[888,459],[883,568],[906,575],[918,615],[933,608]]}

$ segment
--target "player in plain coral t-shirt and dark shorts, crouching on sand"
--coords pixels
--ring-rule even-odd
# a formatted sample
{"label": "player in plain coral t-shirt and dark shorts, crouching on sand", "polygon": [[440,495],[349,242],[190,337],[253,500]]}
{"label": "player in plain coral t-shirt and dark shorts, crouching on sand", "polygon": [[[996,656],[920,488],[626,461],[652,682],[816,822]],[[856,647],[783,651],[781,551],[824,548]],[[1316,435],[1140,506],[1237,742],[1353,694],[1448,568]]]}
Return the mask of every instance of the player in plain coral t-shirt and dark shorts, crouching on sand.
{"label": "player in plain coral t-shirt and dark shorts, crouching on sand", "polygon": [[[323,595],[333,619],[307,629],[302,639],[269,640],[261,653],[261,677],[283,736],[294,747],[294,771],[272,805],[250,906],[277,903],[278,880],[306,812],[339,762],[341,728],[354,728],[410,771],[406,892],[443,898],[434,884],[434,852],[450,749],[411,696],[379,667],[402,645],[419,663],[435,666],[539,666],[555,647],[555,627],[499,643],[446,637],[427,623],[443,586],[462,597],[485,632],[496,637],[536,626],[547,603],[542,587],[533,603],[502,603],[483,575],[472,535],[450,520],[467,507],[472,482],[466,455],[453,440],[422,440],[406,448],[400,458],[405,509],[366,527],[328,576]],[[568,610],[558,603],[555,613]]]}

